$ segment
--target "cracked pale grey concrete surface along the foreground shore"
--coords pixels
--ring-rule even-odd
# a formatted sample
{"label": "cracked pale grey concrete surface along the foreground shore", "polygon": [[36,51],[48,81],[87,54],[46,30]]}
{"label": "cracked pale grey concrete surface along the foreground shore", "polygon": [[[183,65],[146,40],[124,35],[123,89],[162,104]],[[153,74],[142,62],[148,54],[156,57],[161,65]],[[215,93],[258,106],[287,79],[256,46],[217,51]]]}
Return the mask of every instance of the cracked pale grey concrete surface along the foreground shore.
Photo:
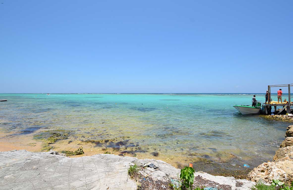
{"label": "cracked pale grey concrete surface along the foreground shore", "polygon": [[[127,176],[130,164],[139,166],[151,162],[158,169],[143,168],[141,174],[154,181],[169,181],[180,173],[179,169],[161,160],[137,159],[117,155],[98,154],[77,158],[50,152],[25,150],[0,152],[0,189],[78,189],[78,190],[135,190],[137,184]],[[255,183],[234,177],[212,176],[195,172],[195,176],[225,184],[232,190],[250,189]],[[236,183],[241,182],[237,187]]]}

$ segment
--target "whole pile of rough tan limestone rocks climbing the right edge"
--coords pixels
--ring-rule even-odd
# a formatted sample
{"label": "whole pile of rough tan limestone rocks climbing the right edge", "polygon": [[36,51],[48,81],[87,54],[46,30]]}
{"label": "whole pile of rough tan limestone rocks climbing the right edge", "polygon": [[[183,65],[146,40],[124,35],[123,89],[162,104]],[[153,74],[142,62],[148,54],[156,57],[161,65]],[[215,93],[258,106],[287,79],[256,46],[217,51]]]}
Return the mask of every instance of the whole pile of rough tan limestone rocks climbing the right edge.
{"label": "whole pile of rough tan limestone rocks climbing the right edge", "polygon": [[285,140],[276,151],[273,162],[264,162],[247,175],[248,180],[263,180],[271,183],[273,179],[291,183],[293,181],[293,125],[287,127]]}

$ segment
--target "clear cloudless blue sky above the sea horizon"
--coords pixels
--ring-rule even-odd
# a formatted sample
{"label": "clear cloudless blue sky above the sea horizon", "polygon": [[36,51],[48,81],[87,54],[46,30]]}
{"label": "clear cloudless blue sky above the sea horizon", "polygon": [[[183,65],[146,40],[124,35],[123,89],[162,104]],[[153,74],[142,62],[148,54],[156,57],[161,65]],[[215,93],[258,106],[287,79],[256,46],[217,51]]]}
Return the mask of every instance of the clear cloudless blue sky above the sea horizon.
{"label": "clear cloudless blue sky above the sea horizon", "polygon": [[293,83],[292,8],[0,0],[0,93],[265,93]]}

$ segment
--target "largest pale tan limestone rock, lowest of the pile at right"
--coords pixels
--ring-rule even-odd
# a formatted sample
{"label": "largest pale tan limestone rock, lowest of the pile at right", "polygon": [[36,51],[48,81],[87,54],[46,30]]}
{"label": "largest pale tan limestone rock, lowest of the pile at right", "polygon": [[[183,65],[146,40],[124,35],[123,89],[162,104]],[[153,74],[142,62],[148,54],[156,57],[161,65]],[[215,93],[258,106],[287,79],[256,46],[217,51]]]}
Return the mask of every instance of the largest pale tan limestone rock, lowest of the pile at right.
{"label": "largest pale tan limestone rock, lowest of the pile at right", "polygon": [[249,172],[247,179],[255,182],[262,179],[268,183],[271,183],[273,179],[279,179],[291,183],[293,181],[293,161],[265,162]]}

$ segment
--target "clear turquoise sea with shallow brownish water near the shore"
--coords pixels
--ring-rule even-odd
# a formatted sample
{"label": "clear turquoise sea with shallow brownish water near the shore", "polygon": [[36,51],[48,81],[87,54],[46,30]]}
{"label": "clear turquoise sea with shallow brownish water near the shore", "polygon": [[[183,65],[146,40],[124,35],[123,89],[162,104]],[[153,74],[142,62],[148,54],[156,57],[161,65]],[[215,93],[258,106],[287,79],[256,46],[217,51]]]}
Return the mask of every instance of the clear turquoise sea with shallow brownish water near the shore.
{"label": "clear turquoise sea with shallow brownish water near the shore", "polygon": [[[264,96],[256,99],[263,103]],[[2,139],[59,129],[69,132],[58,144],[63,149],[90,143],[100,151],[167,162],[234,156],[256,166],[272,160],[289,125],[242,116],[232,107],[251,104],[252,94],[0,94],[0,99],[8,99],[0,102]]]}

